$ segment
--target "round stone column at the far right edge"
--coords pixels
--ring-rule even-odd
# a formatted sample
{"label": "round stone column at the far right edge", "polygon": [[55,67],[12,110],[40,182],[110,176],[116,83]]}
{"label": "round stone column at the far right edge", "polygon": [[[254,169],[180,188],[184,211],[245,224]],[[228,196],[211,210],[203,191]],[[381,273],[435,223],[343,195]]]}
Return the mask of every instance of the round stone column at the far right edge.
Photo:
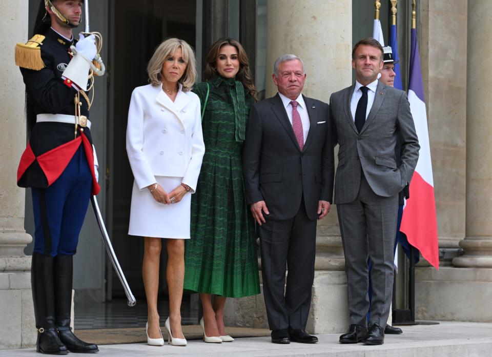
{"label": "round stone column at the far right edge", "polygon": [[468,1],[466,237],[456,267],[492,268],[492,72],[485,60],[492,51],[490,14],[491,2]]}

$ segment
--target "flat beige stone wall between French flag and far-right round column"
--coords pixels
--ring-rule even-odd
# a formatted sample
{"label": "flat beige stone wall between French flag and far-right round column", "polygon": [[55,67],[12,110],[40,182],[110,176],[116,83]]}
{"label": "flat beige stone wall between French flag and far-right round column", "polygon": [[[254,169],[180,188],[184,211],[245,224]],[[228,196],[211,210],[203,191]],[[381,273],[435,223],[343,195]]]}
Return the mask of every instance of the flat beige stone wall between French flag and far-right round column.
{"label": "flat beige stone wall between French flag and far-right round column", "polygon": [[418,8],[441,266],[451,265],[447,256],[465,237],[466,9],[462,0],[421,0]]}

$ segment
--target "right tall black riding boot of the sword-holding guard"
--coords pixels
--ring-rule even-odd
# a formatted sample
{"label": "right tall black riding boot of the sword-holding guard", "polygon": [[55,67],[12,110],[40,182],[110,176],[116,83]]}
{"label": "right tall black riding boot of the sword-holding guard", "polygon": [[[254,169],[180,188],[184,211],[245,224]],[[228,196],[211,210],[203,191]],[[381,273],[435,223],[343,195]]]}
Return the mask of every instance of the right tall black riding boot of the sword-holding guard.
{"label": "right tall black riding boot of the sword-holding guard", "polygon": [[96,353],[96,345],[79,340],[70,328],[72,309],[73,255],[55,256],[55,314],[58,336],[70,352]]}

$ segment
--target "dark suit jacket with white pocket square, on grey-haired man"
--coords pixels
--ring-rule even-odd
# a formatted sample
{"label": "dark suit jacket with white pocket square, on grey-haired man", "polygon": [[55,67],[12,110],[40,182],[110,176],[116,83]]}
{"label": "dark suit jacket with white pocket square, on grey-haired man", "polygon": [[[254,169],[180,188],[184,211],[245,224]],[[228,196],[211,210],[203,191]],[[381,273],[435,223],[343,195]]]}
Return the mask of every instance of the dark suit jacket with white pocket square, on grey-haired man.
{"label": "dark suit jacket with white pocket square, on grey-haired man", "polygon": [[282,100],[277,94],[251,107],[243,146],[248,204],[265,201],[273,220],[298,212],[317,219],[318,201],[332,201],[334,157],[330,112],[326,103],[303,96],[310,129],[301,151]]}

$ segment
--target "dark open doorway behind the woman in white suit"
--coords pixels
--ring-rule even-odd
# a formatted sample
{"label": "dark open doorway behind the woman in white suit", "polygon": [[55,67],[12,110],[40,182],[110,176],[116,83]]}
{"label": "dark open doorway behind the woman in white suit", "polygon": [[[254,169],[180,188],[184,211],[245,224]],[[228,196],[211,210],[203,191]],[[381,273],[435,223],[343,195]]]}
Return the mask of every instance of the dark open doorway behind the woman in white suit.
{"label": "dark open doorway behind the woman in white suit", "polygon": [[[107,222],[114,251],[139,305],[145,305],[141,264],[142,237],[128,235],[133,174],[126,153],[126,128],[131,93],[148,84],[147,63],[154,49],[169,37],[196,44],[196,0],[118,0],[110,5],[109,128]],[[106,301],[121,305],[125,292],[107,262]],[[167,309],[166,252],[161,255],[159,308]],[[190,294],[183,296],[183,318],[187,315]],[[111,303],[113,304],[113,303]],[[122,304],[125,308],[125,304]],[[162,315],[165,311],[161,312]],[[188,317],[188,316],[186,316]],[[145,321],[143,322],[145,326]]]}

